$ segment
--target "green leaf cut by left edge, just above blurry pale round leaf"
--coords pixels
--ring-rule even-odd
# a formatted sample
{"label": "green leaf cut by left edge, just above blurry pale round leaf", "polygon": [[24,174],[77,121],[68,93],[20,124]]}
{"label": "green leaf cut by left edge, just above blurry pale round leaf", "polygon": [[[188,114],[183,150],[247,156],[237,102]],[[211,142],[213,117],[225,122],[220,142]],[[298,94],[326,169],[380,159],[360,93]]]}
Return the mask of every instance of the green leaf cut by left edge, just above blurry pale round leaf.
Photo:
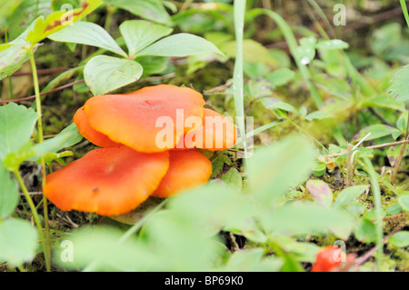
{"label": "green leaf cut by left edge, just above blurry pale round leaf", "polygon": [[18,189],[15,180],[0,162],[0,220],[11,215],[18,203]]}

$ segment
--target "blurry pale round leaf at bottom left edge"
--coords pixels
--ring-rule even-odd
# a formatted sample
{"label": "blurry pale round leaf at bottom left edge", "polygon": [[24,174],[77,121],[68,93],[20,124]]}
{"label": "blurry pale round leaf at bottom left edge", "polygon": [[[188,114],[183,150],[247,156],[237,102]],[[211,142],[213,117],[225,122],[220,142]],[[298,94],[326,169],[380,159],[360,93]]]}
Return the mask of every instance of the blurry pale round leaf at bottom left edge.
{"label": "blurry pale round leaf at bottom left edge", "polygon": [[29,222],[10,218],[0,223],[0,263],[17,266],[31,262],[37,248],[37,232]]}

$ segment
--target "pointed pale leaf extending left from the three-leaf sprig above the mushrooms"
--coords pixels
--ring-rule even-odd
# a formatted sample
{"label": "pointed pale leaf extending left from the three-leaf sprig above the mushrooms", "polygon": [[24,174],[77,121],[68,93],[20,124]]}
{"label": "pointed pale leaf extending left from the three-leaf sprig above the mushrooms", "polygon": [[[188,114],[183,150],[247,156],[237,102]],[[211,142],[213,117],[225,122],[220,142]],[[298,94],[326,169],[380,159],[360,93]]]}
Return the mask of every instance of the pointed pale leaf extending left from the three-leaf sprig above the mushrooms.
{"label": "pointed pale leaf extending left from the three-leaf sprig above the mushrooms", "polygon": [[65,29],[49,35],[48,38],[59,42],[92,45],[127,57],[125,51],[115,43],[114,38],[103,27],[92,22],[76,22],[74,25],[68,25]]}

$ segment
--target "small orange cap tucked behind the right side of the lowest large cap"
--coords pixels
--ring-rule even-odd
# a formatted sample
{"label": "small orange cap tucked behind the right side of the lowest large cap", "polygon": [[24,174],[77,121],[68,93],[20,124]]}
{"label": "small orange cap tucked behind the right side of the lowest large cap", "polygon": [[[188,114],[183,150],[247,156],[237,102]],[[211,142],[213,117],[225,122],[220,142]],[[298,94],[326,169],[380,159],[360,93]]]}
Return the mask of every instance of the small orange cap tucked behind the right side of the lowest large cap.
{"label": "small orange cap tucked behind the right side of the lowest large cap", "polygon": [[212,163],[195,150],[171,150],[169,160],[169,169],[153,196],[176,195],[187,188],[204,185],[212,175]]}

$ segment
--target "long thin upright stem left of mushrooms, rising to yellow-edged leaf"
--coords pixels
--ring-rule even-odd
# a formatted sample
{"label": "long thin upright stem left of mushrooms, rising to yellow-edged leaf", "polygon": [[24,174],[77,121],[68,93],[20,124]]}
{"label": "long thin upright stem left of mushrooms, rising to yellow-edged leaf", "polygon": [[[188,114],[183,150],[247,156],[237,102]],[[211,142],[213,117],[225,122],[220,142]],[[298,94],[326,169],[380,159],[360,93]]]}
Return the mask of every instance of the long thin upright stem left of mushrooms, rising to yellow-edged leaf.
{"label": "long thin upright stem left of mushrooms, rising to yellow-edged leaf", "polygon": [[[38,75],[37,75],[37,67],[35,65],[35,57],[34,57],[34,49],[31,47],[28,51],[30,56],[30,64],[31,69],[33,72],[33,81],[35,85],[35,106],[36,112],[38,115],[38,142],[44,142],[44,135],[43,135],[43,112],[41,108],[41,98],[40,98],[40,87],[38,85]],[[45,159],[44,156],[40,157],[40,165],[41,165],[41,183],[43,188],[45,187]],[[43,195],[43,208],[44,208],[44,220],[45,220],[45,247],[44,247],[44,255],[45,255],[45,268],[46,271],[51,271],[51,250],[50,250],[50,228],[48,224],[48,206],[47,206],[47,198]]]}

